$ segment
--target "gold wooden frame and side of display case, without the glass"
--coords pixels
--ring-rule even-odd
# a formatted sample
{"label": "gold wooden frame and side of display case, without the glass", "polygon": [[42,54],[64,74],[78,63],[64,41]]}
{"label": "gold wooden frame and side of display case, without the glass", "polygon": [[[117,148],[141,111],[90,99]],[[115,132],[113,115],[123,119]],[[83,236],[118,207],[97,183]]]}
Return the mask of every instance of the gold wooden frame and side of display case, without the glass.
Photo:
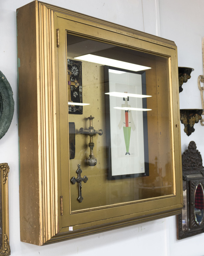
{"label": "gold wooden frame and side of display case, without the glass", "polygon": [[[167,58],[171,119],[168,123],[172,159],[170,176],[173,180],[171,195],[118,204],[115,208],[103,207],[94,213],[94,216],[100,215],[101,220],[95,217],[92,222],[89,220],[92,210],[76,214],[71,212],[70,197],[65,196],[70,191],[71,177],[64,176],[65,172],[68,173],[69,165],[68,161],[62,160],[67,157],[67,148],[64,150],[60,137],[62,129],[68,131],[68,123],[64,122],[65,127],[62,127],[59,122],[60,118],[67,119],[67,110],[61,110],[59,95],[59,77],[66,72],[59,59],[63,54],[62,47],[65,47],[64,29],[67,29],[67,24],[72,35]],[[43,245],[180,213],[183,193],[175,43],[38,1],[17,10],[17,40],[21,241]],[[64,135],[63,140],[68,140],[68,132]],[[106,214],[109,217],[104,219]],[[78,218],[80,223],[73,225],[73,218],[75,221]],[[73,231],[70,231],[70,227]]]}

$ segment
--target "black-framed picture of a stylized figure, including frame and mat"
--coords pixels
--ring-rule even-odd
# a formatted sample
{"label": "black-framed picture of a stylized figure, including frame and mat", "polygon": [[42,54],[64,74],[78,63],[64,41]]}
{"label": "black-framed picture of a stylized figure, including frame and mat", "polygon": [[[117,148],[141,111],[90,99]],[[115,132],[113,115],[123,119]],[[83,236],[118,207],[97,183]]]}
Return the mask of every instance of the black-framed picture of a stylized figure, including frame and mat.
{"label": "black-framed picture of a stylized figure, including frame and mat", "polygon": [[108,179],[149,176],[145,71],[105,66],[105,81]]}

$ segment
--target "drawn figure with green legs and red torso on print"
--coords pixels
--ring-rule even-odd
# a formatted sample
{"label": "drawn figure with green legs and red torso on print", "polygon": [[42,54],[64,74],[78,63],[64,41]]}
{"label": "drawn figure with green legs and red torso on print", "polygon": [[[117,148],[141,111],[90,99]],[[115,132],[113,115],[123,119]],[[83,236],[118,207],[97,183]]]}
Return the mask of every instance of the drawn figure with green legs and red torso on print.
{"label": "drawn figure with green legs and red torso on print", "polygon": [[[127,92],[126,92],[127,93]],[[124,104],[122,104],[122,108],[130,108],[130,105],[128,105],[129,97],[123,98],[125,101]],[[121,120],[120,123],[118,124],[119,129],[123,127],[123,134],[124,134],[124,139],[125,139],[125,147],[126,147],[126,153],[125,155],[130,155],[129,153],[129,141],[130,141],[130,133],[131,133],[131,128],[133,131],[135,131],[136,127],[132,119],[132,113],[131,110],[121,110]]]}

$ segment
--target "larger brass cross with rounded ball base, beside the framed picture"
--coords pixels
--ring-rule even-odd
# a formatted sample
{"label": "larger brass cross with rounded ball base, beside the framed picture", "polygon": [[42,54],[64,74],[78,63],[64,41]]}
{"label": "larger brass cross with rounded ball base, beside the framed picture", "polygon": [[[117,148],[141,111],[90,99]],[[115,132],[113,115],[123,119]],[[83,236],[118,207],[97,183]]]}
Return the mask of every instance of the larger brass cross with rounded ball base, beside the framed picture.
{"label": "larger brass cross with rounded ball base, beside the framed picture", "polygon": [[103,131],[100,129],[98,131],[93,129],[93,116],[88,117],[89,121],[90,121],[90,125],[88,129],[83,129],[82,127],[79,129],[79,132],[82,134],[88,134],[90,136],[90,141],[89,141],[89,148],[90,148],[90,155],[87,158],[86,162],[89,166],[95,166],[97,164],[97,159],[93,154],[93,147],[94,147],[94,143],[93,143],[93,135],[98,133],[99,135],[103,134]]}

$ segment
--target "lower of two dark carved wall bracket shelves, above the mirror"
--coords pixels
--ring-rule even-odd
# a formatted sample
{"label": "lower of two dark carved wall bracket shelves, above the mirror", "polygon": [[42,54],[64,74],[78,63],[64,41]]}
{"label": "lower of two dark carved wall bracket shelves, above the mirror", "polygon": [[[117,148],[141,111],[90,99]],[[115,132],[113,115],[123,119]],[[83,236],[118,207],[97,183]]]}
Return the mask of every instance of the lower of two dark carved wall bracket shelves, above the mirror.
{"label": "lower of two dark carved wall bracket shelves, above the mirror", "polygon": [[202,119],[202,109],[180,109],[180,120],[184,124],[184,132],[190,136],[195,131],[193,125]]}

